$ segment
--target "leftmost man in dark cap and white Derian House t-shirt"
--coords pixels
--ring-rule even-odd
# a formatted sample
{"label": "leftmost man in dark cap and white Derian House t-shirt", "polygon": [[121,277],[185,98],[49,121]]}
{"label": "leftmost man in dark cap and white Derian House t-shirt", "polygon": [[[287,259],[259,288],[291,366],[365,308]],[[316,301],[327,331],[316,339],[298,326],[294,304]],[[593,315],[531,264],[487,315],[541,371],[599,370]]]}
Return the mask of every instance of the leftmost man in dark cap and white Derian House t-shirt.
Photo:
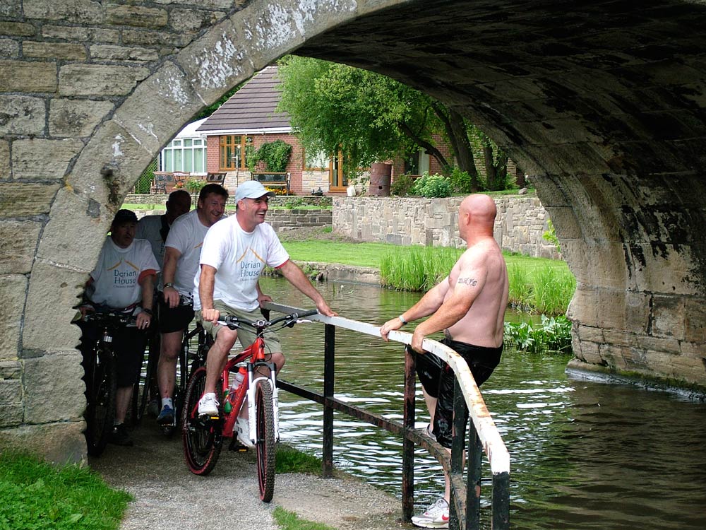
{"label": "leftmost man in dark cap and white Derian House t-shirt", "polygon": [[[125,426],[125,416],[131,401],[133,386],[140,374],[145,355],[145,329],[152,322],[152,302],[155,277],[160,271],[147,240],[135,238],[137,216],[129,210],[119,210],[110,225],[91,271],[85,290],[87,311],[122,311],[136,316],[135,326],[126,326],[113,337],[113,349],[118,356],[118,391],[115,406],[115,424],[109,441],[118,445],[132,445]],[[90,355],[97,341],[97,328],[92,322],[80,322],[83,331],[81,351]]]}

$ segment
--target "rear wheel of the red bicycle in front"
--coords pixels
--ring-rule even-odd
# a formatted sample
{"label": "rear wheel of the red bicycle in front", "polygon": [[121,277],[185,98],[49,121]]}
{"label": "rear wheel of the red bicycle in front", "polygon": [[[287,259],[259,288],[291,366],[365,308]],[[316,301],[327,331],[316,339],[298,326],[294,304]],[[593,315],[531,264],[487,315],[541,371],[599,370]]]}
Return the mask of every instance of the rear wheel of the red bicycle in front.
{"label": "rear wheel of the red bicycle in front", "polygon": [[198,400],[206,384],[206,368],[198,368],[189,378],[181,413],[181,435],[184,458],[189,471],[208,475],[216,465],[222,447],[220,423],[198,417]]}

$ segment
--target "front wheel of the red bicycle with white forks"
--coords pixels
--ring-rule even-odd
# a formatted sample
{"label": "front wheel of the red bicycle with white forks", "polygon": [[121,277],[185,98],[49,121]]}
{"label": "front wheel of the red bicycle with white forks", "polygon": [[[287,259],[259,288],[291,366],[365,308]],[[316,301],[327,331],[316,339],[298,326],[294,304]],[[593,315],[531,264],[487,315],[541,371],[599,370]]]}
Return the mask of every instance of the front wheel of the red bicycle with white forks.
{"label": "front wheel of the red bicycle with white forks", "polygon": [[255,391],[258,483],[260,498],[270,502],[275,493],[275,411],[272,388],[267,381],[259,381]]}

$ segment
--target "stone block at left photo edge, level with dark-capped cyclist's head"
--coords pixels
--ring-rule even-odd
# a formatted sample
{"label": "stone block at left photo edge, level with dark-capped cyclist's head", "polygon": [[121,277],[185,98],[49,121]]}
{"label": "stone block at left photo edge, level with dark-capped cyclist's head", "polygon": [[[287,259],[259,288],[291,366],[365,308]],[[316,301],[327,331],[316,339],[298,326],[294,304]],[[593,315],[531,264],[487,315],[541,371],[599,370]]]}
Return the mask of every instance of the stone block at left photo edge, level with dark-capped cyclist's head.
{"label": "stone block at left photo edge, level with dark-capped cyclist's head", "polygon": [[0,219],[0,274],[30,272],[42,224],[37,220]]}

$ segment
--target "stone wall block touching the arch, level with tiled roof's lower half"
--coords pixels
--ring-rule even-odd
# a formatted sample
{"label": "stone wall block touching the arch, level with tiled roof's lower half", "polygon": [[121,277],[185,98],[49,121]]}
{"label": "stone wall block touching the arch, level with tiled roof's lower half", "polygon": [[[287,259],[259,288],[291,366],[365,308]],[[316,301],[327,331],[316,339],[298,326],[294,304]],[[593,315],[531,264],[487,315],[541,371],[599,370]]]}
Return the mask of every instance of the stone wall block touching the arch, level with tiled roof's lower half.
{"label": "stone wall block touching the arch, level with tiled roof's lower half", "polygon": [[73,139],[90,136],[113,106],[110,101],[54,98],[49,107],[49,134]]}

